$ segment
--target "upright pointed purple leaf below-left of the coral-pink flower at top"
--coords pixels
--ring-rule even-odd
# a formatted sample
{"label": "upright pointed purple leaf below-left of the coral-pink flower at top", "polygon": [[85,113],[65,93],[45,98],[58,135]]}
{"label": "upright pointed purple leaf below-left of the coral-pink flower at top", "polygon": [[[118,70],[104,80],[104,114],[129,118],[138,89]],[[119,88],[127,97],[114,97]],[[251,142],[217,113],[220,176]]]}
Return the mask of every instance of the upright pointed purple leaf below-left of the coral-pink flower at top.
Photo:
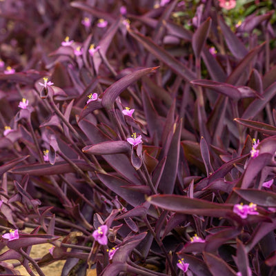
{"label": "upright pointed purple leaf below-left of the coral-pink flower at top", "polygon": [[208,19],[206,19],[204,23],[201,23],[199,28],[197,28],[197,30],[193,34],[192,46],[193,46],[193,50],[195,52],[196,58],[200,57],[201,55],[201,50],[205,45],[211,24],[212,24],[212,19],[208,17]]}

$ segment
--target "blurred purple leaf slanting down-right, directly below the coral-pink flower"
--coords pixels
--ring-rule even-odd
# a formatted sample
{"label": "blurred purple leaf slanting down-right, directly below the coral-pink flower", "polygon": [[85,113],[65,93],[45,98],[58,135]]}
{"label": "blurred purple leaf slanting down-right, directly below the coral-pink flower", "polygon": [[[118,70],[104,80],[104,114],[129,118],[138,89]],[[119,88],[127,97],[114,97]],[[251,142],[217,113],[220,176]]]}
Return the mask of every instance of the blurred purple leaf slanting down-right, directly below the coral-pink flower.
{"label": "blurred purple leaf slanting down-right, directly below the coral-pink flower", "polygon": [[232,30],[226,25],[224,19],[219,18],[219,26],[221,28],[221,32],[224,34],[224,39],[228,46],[228,49],[232,52],[233,56],[237,59],[243,59],[248,50],[244,46],[244,43],[239,40],[239,38],[232,32]]}

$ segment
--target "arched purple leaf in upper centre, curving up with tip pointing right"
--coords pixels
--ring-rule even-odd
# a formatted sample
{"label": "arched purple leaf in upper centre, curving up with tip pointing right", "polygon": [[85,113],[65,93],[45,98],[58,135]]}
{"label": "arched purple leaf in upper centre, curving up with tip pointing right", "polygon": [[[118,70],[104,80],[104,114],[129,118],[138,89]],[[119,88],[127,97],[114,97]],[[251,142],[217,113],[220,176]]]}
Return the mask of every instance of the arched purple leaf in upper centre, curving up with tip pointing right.
{"label": "arched purple leaf in upper centre, curving up with tip pointing right", "polygon": [[158,67],[152,67],[131,72],[130,74],[126,75],[126,77],[122,77],[121,79],[119,79],[119,81],[113,83],[103,92],[103,97],[101,101],[103,107],[110,110],[121,92],[126,90],[126,88],[130,86],[130,84],[134,83],[144,75],[153,72],[157,68]]}

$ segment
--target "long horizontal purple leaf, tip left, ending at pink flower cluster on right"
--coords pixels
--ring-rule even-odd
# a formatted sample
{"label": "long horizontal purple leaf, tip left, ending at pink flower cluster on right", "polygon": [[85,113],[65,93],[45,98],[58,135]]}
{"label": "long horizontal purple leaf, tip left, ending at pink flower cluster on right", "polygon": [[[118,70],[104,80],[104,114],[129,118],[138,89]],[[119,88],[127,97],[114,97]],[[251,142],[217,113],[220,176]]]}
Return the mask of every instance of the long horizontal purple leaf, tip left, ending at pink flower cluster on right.
{"label": "long horizontal purple leaf, tip left, ending at pink flower cluster on right", "polygon": [[152,195],[147,200],[150,204],[181,214],[228,217],[233,213],[233,205],[210,203],[182,195]]}

